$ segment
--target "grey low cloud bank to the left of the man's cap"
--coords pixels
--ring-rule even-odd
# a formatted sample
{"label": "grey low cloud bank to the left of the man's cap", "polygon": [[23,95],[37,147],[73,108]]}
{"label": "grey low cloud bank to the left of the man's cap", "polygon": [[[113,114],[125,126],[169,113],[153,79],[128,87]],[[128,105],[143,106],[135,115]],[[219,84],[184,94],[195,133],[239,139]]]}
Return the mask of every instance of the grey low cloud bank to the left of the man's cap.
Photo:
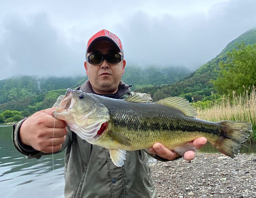
{"label": "grey low cloud bank to the left of the man's cap", "polygon": [[[1,42],[0,78],[15,75],[70,76],[84,72],[83,49],[80,54],[72,50],[58,36],[45,13],[20,20],[17,16],[8,19],[6,33]],[[85,43],[82,43],[83,48]]]}

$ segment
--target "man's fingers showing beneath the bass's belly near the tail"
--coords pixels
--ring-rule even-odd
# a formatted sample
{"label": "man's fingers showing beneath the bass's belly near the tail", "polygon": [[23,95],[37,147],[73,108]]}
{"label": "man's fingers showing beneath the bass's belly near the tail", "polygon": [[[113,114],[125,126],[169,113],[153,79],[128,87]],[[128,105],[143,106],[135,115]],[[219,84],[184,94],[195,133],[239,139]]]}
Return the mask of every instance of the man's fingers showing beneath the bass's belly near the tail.
{"label": "man's fingers showing beneath the bass's belly near the tail", "polygon": [[[197,149],[199,149],[203,147],[206,144],[206,142],[207,142],[206,138],[202,137],[194,140],[192,143]],[[168,148],[164,147],[161,143],[155,143],[153,147],[148,148],[148,151],[150,151],[151,153],[155,153],[156,155],[167,160],[174,160],[179,156],[177,152],[173,152],[172,150],[169,150]],[[185,155],[184,155],[185,160],[189,161],[189,160],[193,160],[194,158],[195,158],[195,152],[191,150],[185,152]]]}

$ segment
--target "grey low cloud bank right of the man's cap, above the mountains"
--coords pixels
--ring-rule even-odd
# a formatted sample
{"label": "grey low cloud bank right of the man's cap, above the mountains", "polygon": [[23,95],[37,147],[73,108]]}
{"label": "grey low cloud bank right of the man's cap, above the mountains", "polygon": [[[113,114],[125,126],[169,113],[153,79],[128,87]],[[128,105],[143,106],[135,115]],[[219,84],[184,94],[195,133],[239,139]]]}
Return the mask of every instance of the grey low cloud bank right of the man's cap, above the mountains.
{"label": "grey low cloud bank right of the man's cap, above the mountains", "polygon": [[232,1],[183,17],[152,17],[139,11],[121,26],[126,59],[144,66],[184,65],[195,70],[256,27],[255,10],[256,2]]}

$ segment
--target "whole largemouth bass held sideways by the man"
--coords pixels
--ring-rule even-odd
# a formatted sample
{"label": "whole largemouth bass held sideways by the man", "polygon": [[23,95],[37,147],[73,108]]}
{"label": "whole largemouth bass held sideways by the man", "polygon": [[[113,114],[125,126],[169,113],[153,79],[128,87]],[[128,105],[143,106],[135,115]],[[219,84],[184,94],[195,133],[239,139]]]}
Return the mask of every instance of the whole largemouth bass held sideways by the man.
{"label": "whole largemouth bass held sideways by the man", "polygon": [[149,148],[156,142],[184,155],[196,150],[189,141],[199,137],[234,158],[252,127],[242,121],[197,119],[195,109],[179,97],[157,102],[139,96],[120,100],[71,89],[53,116],[66,121],[81,139],[108,148],[116,166],[123,165],[126,151]]}

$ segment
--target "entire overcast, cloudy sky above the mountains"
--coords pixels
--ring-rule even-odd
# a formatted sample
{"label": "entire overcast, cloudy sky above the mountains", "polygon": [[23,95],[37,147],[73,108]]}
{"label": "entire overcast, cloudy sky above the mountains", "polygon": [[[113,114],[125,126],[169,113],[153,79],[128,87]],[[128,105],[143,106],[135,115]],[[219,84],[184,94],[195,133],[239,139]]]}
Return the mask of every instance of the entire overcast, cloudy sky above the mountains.
{"label": "entire overcast, cloudy sky above the mountains", "polygon": [[86,43],[102,29],[127,65],[196,70],[256,27],[255,10],[255,0],[1,1],[0,79],[86,75]]}

